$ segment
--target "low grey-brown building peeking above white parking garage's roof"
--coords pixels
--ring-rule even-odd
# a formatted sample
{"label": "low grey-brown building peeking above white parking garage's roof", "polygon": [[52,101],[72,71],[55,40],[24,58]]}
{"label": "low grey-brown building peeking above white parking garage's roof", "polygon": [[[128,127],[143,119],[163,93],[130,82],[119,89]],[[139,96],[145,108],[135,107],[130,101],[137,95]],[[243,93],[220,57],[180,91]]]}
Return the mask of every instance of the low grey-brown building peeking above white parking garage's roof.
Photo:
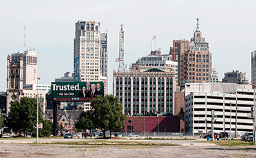
{"label": "low grey-brown building peeking above white parking garage's roof", "polygon": [[238,70],[232,72],[225,72],[222,83],[237,83],[237,84],[249,84],[249,79],[246,78],[246,73],[239,72]]}

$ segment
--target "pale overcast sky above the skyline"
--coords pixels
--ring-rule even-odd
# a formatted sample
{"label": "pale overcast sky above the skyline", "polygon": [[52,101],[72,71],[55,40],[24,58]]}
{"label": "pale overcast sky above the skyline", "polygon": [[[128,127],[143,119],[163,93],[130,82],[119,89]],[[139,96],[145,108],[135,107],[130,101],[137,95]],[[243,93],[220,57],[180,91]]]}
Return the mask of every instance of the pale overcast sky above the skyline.
{"label": "pale overcast sky above the skyline", "polygon": [[[209,42],[213,66],[219,73],[239,70],[251,80],[251,52],[256,50],[255,0],[0,0],[0,91],[6,91],[7,56],[34,47],[40,83],[51,84],[64,72],[73,72],[75,22],[101,23],[108,30],[109,92],[114,62],[119,55],[119,30],[124,24],[124,62],[127,65],[157,48],[169,53],[173,39],[188,39],[199,18]],[[153,46],[154,47],[154,46]]]}

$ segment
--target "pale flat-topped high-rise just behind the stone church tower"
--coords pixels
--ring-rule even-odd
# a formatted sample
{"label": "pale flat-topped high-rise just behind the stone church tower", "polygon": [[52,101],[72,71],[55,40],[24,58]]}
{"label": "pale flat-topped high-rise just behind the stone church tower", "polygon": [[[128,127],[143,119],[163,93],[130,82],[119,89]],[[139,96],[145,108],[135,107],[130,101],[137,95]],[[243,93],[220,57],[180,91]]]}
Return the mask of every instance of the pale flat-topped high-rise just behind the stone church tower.
{"label": "pale flat-topped high-rise just behind the stone church tower", "polygon": [[20,56],[23,57],[23,86],[36,84],[38,76],[38,55],[34,50],[25,50],[11,54],[11,61],[19,62]]}

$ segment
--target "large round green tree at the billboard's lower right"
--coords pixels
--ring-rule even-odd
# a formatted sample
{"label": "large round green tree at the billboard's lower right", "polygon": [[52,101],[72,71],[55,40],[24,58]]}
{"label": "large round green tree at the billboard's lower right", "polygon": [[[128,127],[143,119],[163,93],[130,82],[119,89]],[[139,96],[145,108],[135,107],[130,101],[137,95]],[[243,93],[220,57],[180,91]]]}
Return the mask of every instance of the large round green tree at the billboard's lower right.
{"label": "large round green tree at the billboard's lower right", "polygon": [[112,130],[119,132],[122,129],[126,116],[122,114],[123,106],[118,97],[99,96],[91,101],[90,106],[93,108],[91,111],[94,116],[94,126],[103,129],[104,137],[107,130],[110,130],[111,137]]}

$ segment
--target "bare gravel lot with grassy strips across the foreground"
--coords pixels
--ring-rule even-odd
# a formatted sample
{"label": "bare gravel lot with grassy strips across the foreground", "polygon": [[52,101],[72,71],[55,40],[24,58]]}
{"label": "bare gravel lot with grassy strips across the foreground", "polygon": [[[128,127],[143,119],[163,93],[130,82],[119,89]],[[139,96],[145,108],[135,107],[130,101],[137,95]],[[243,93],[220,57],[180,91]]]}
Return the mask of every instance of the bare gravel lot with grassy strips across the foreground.
{"label": "bare gravel lot with grassy strips across the foreground", "polygon": [[[82,139],[39,139],[43,142],[81,141]],[[85,141],[85,139],[83,139]],[[90,139],[87,139],[90,141]],[[112,140],[113,141],[113,140]],[[129,140],[127,140],[129,141]],[[132,140],[134,141],[134,140]],[[145,140],[138,140],[145,141]],[[0,140],[0,157],[47,158],[256,158],[256,146],[221,147],[215,144],[195,143],[192,140],[147,140],[181,146],[95,146],[29,144],[35,139]],[[20,144],[25,143],[25,144]]]}

